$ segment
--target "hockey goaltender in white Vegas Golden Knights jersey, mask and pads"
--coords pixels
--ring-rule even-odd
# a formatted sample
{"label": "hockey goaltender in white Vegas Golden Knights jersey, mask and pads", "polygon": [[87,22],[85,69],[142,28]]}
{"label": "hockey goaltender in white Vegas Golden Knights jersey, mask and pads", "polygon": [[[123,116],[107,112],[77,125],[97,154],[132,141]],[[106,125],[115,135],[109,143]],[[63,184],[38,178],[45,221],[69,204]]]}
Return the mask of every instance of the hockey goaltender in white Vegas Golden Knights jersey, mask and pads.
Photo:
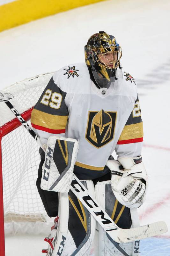
{"label": "hockey goaltender in white Vegas Golden Knights jersey, mask and pads", "polygon": [[69,190],[74,173],[118,227],[139,226],[137,208],[147,191],[143,123],[136,81],[122,69],[121,57],[114,36],[92,35],[85,63],[56,71],[32,111],[46,151],[40,149],[37,188],[48,216],[55,217],[42,251],[47,255],[90,255],[96,235],[100,256],[139,255],[139,240],[116,243]]}

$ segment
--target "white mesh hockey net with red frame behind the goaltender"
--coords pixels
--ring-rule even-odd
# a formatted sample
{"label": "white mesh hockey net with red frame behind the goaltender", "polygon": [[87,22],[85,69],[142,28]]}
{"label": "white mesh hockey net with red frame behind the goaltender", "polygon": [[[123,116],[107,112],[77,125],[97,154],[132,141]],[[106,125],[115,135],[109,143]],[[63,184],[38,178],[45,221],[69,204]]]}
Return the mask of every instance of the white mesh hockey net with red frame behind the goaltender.
{"label": "white mesh hockey net with red frame behind the goaltender", "polygon": [[[2,90],[12,97],[10,102],[29,124],[32,108],[51,76],[52,73],[39,75]],[[4,229],[5,235],[43,234],[49,231],[53,220],[48,218],[36,187],[39,163],[38,144],[1,101],[0,197],[3,202],[0,232]]]}

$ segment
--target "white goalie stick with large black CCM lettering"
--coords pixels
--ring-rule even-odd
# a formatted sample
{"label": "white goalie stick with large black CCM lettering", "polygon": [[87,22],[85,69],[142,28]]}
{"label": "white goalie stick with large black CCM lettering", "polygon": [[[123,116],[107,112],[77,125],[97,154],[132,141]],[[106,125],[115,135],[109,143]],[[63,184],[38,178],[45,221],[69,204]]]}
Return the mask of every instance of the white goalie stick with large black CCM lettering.
{"label": "white goalie stick with large black CCM lettering", "polygon": [[[33,129],[28,125],[28,123],[21,117],[18,111],[11,104],[11,102],[9,101],[11,98],[6,97],[0,91],[1,101],[3,101],[10,108],[10,110],[18,118],[21,124],[24,125],[24,127],[28,130],[28,132],[33,136],[33,138],[43,149],[40,138],[36,135]],[[164,221],[158,221],[152,224],[130,229],[119,228],[115,224],[115,222],[109,217],[106,211],[102,207],[100,207],[98,202],[93,197],[91,197],[88,190],[75,175],[73,175],[70,190],[78,197],[78,199],[83,203],[85,208],[92,214],[92,216],[97,220],[101,227],[116,243],[132,242],[135,240],[141,240],[147,237],[160,235],[167,232],[167,226]]]}

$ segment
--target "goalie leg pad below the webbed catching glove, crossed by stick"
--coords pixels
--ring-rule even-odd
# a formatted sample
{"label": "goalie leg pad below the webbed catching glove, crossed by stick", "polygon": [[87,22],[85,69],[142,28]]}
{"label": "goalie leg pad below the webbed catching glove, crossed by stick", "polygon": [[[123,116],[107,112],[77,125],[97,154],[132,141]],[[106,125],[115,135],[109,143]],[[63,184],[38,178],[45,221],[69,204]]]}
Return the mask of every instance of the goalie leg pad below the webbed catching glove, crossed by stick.
{"label": "goalie leg pad below the webbed catching glove, crossed by stick", "polygon": [[[119,203],[111,188],[111,181],[97,182],[95,186],[96,200],[106,210],[108,215],[115,221],[120,228],[132,227],[133,221],[131,219],[130,209]],[[134,253],[135,243],[115,243],[109,235],[99,227],[99,256],[132,256],[139,255]],[[137,245],[137,244],[136,244]],[[138,244],[139,245],[139,244]],[[137,246],[136,246],[137,247]]]}

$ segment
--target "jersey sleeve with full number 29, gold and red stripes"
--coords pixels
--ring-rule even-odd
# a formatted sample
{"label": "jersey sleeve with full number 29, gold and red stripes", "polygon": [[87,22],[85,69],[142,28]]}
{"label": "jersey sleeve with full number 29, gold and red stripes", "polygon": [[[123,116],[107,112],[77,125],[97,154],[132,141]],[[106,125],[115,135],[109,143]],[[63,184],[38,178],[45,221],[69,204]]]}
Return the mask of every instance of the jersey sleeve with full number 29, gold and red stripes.
{"label": "jersey sleeve with full number 29, gold and red stripes", "polygon": [[31,125],[42,144],[47,144],[48,137],[51,135],[65,136],[69,114],[64,101],[65,97],[66,92],[55,84],[52,77],[33,108]]}

